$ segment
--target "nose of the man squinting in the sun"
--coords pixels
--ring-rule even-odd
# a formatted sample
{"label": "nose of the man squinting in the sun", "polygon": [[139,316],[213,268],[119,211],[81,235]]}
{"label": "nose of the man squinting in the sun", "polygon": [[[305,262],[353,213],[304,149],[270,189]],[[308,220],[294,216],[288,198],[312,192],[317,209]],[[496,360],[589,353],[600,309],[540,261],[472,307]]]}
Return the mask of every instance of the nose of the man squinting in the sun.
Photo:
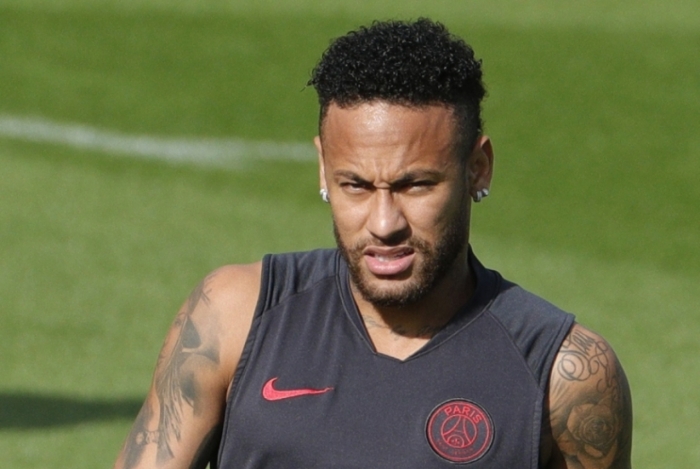
{"label": "nose of the man squinting in the sun", "polygon": [[409,236],[409,226],[399,201],[389,189],[376,189],[372,194],[367,229],[386,244],[396,244]]}

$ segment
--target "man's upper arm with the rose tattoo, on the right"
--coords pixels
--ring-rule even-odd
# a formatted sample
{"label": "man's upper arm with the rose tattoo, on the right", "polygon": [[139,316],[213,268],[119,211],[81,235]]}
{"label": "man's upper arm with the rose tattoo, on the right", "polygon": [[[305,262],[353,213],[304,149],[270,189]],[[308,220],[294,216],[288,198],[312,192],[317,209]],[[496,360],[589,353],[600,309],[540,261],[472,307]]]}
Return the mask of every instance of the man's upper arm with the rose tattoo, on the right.
{"label": "man's upper arm with the rose tattoo, on the right", "polygon": [[552,367],[547,404],[547,468],[631,467],[630,389],[615,353],[601,336],[578,324],[572,327]]}

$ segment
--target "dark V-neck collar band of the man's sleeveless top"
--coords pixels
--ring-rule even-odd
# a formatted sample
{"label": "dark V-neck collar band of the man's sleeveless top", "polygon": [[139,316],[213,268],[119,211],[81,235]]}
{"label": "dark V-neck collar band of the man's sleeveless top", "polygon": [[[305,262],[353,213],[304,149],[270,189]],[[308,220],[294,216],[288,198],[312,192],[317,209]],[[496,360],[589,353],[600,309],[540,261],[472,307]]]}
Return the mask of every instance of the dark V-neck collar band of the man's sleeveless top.
{"label": "dark V-neck collar band of the man's sleeveless top", "polygon": [[336,283],[345,314],[353,324],[356,332],[362,337],[366,346],[372,351],[372,353],[404,363],[425,355],[431,350],[439,347],[445,341],[449,340],[458,331],[464,327],[467,327],[481,314],[482,311],[488,307],[489,303],[491,303],[496,295],[496,291],[500,283],[500,276],[496,272],[486,269],[481,262],[479,262],[472,252],[471,246],[469,247],[468,258],[471,271],[476,277],[476,287],[474,288],[474,293],[472,294],[471,298],[425,345],[403,360],[377,352],[374,343],[372,342],[372,339],[365,328],[364,322],[362,321],[360,311],[355,303],[355,299],[352,296],[348,265],[340,254],[340,251],[336,251]]}

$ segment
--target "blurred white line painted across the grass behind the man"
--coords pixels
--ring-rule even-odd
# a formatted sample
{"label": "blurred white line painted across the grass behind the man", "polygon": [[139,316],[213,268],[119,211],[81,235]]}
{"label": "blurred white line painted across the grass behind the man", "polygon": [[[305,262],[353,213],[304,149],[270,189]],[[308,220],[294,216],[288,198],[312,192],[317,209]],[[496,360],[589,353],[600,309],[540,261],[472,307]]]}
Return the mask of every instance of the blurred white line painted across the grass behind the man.
{"label": "blurred white line painted across the grass behind the man", "polygon": [[81,124],[6,114],[0,114],[0,137],[204,166],[229,167],[254,160],[314,161],[316,155],[310,143],[129,135]]}

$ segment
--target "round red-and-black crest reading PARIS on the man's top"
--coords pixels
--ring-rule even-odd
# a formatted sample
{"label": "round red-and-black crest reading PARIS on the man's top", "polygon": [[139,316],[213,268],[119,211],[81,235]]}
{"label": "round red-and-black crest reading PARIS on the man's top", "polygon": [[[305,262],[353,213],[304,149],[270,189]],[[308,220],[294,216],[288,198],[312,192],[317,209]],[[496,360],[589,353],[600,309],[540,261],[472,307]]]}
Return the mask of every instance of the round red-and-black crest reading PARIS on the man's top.
{"label": "round red-and-black crest reading PARIS on the man's top", "polygon": [[481,458],[493,442],[493,422],[471,401],[454,399],[437,406],[428,417],[426,434],[438,456],[466,464]]}

